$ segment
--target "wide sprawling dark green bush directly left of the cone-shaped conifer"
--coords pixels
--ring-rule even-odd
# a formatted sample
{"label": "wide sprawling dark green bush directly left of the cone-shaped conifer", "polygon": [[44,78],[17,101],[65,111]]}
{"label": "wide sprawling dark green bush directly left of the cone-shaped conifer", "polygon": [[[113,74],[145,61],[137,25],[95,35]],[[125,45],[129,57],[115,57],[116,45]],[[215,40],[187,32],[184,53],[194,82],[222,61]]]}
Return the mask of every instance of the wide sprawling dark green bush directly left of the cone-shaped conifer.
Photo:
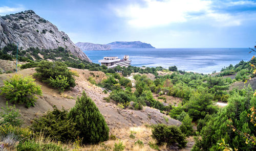
{"label": "wide sprawling dark green bush directly left of the cone-shaped conifer", "polygon": [[68,119],[67,115],[68,111],[64,108],[60,111],[54,107],[53,111],[34,119],[31,129],[37,133],[44,132],[46,136],[57,141],[74,140],[80,132],[75,128],[76,123]]}

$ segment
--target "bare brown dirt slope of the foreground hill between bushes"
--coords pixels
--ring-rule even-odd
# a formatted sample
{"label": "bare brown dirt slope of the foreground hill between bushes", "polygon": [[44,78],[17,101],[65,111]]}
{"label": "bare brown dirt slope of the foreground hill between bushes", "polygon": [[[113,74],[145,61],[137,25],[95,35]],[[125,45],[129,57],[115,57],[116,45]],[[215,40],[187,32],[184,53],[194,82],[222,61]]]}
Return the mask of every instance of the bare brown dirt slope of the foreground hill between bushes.
{"label": "bare brown dirt slope of the foreground hill between bushes", "polygon": [[[106,78],[103,72],[75,68],[70,69],[77,72],[79,75],[79,77],[75,77],[77,85],[74,88],[71,88],[71,90],[65,91],[62,95],[59,94],[57,90],[36,80],[36,83],[41,85],[42,96],[38,96],[35,107],[27,109],[24,106],[16,105],[16,108],[19,109],[19,112],[22,115],[21,118],[24,121],[24,125],[29,125],[33,118],[40,117],[47,111],[53,110],[53,106],[56,106],[58,109],[61,109],[62,107],[68,110],[71,109],[75,105],[76,97],[81,96],[83,90],[95,102],[110,129],[138,126],[143,123],[166,123],[168,125],[181,124],[180,121],[169,118],[160,113],[159,110],[150,107],[144,107],[142,111],[130,109],[123,110],[118,108],[112,102],[106,103],[103,98],[109,96],[109,94],[102,93],[102,89],[100,87],[97,87],[87,81],[89,77],[94,77],[96,82],[102,81]],[[33,73],[35,73],[34,68],[18,71],[18,74],[23,74],[25,76],[32,75]],[[0,74],[0,86],[3,86],[3,80],[11,78],[13,74],[14,73]],[[73,97],[73,99],[69,99],[70,97]],[[0,106],[5,106],[5,103],[6,100],[1,96]],[[165,120],[166,117],[168,120]]]}

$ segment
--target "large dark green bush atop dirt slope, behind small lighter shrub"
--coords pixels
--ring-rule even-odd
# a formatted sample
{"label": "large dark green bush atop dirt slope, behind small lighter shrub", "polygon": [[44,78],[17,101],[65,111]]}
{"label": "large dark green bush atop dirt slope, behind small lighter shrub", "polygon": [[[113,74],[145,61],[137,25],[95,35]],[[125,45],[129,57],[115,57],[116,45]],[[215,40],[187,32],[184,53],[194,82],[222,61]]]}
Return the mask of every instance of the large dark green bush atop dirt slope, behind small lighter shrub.
{"label": "large dark green bush atop dirt slope, behind small lighter shrub", "polygon": [[69,84],[65,84],[65,89],[69,89],[70,87],[74,87],[76,85],[73,73],[63,62],[49,62],[43,60],[38,64],[35,70],[35,77],[37,77],[42,82],[50,83],[51,77],[60,78],[59,75],[61,75],[67,78],[67,80],[65,81],[67,81],[67,83]]}

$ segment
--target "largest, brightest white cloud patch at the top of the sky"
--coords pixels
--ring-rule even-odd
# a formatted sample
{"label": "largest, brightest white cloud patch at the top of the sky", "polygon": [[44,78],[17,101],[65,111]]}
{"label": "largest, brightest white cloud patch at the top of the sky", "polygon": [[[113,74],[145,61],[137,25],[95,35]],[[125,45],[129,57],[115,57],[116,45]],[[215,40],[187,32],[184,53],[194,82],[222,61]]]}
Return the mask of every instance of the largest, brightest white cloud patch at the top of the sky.
{"label": "largest, brightest white cloud patch at the top of the sky", "polygon": [[124,8],[115,8],[120,17],[128,18],[128,23],[135,27],[155,27],[174,22],[184,22],[188,13],[203,12],[209,9],[210,1],[201,0],[144,0],[146,7],[136,4]]}

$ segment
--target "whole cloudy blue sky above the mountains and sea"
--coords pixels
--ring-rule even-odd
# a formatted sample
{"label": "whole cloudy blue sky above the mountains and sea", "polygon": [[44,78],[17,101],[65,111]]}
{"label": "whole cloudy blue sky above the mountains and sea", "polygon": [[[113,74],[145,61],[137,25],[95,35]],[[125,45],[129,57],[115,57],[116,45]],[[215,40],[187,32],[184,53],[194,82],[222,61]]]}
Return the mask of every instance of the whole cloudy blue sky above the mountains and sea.
{"label": "whole cloudy blue sky above the mountains and sea", "polygon": [[256,1],[0,0],[0,15],[33,10],[76,42],[157,48],[253,47]]}

